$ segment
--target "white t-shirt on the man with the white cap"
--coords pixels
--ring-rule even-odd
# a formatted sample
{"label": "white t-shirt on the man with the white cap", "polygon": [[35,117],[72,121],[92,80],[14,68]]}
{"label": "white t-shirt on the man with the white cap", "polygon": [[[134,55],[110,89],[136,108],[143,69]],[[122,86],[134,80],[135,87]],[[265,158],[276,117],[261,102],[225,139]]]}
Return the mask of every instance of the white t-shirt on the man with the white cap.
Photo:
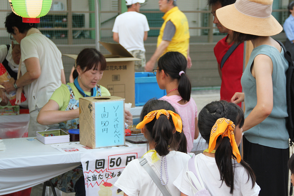
{"label": "white t-shirt on the man with the white cap", "polygon": [[127,11],[116,17],[112,32],[118,33],[119,43],[127,51],[141,50],[144,48],[144,33],[149,31],[147,18],[136,11]]}

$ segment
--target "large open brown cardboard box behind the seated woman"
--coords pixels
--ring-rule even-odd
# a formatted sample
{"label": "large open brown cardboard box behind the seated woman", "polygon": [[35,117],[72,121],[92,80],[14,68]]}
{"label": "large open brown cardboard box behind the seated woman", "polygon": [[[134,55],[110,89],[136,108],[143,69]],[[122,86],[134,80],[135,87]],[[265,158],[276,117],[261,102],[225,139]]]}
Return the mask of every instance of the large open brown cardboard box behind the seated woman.
{"label": "large open brown cardboard box behind the seated woman", "polygon": [[[141,61],[135,58],[119,43],[99,42],[111,54],[106,58],[106,70],[98,84],[108,89],[112,96],[125,98],[126,103],[132,103],[135,107],[135,62]],[[76,59],[78,55],[63,54]]]}

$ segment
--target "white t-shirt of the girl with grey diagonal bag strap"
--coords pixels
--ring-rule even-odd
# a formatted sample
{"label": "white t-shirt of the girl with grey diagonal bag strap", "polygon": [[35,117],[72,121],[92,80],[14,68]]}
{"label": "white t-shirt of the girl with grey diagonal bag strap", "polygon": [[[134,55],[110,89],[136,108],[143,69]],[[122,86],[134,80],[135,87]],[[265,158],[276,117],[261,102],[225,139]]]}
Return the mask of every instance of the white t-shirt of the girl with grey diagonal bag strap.
{"label": "white t-shirt of the girl with grey diagonal bag strap", "polygon": [[[151,163],[151,155],[153,152],[146,153],[143,157],[146,158],[148,164],[151,166],[156,175],[160,178],[160,165],[161,159],[156,163]],[[157,154],[158,155],[158,154]],[[158,155],[159,157],[159,155]],[[172,196],[179,196],[180,191],[173,185],[173,181],[179,175],[187,161],[190,159],[190,155],[181,153],[178,151],[171,151],[166,155],[168,183],[165,185],[168,192]],[[162,167],[162,180],[166,183],[166,174],[164,164]],[[114,186],[121,189],[128,196],[150,196],[157,195],[163,196],[158,189],[152,178],[146,172],[146,170],[140,165],[138,159],[132,160],[121,173]]]}

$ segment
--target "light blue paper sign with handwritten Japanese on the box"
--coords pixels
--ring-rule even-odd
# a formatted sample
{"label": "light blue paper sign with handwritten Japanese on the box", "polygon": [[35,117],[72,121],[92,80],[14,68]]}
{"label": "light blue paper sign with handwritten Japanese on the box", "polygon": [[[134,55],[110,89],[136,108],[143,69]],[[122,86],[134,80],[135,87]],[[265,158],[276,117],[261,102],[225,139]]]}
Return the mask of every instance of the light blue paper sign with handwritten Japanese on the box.
{"label": "light blue paper sign with handwritten Japanese on the box", "polygon": [[[96,147],[124,145],[123,101],[95,103]],[[99,113],[97,113],[99,111]]]}

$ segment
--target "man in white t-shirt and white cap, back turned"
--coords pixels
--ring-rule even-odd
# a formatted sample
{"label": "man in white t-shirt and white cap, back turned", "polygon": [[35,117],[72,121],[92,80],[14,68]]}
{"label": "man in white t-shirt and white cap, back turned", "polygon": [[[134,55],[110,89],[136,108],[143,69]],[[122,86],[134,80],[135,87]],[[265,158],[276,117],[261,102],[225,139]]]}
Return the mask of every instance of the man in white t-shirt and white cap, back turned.
{"label": "man in white t-shirt and white cap, back turned", "polygon": [[146,64],[144,41],[147,39],[149,25],[145,15],[138,13],[145,0],[126,0],[128,11],[116,17],[113,25],[113,40],[120,43],[134,57],[135,71],[143,72]]}

